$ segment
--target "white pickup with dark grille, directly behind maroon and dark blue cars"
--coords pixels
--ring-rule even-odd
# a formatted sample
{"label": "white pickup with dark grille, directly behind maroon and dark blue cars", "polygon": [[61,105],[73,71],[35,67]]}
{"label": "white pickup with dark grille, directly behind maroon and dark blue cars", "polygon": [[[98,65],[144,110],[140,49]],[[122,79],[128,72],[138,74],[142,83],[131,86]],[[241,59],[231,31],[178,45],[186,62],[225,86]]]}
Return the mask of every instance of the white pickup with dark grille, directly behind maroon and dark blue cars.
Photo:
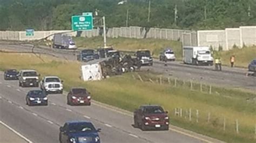
{"label": "white pickup with dark grille, directly behind maroon and dark blue cars", "polygon": [[40,87],[47,93],[63,93],[62,80],[58,76],[45,76],[40,82]]}

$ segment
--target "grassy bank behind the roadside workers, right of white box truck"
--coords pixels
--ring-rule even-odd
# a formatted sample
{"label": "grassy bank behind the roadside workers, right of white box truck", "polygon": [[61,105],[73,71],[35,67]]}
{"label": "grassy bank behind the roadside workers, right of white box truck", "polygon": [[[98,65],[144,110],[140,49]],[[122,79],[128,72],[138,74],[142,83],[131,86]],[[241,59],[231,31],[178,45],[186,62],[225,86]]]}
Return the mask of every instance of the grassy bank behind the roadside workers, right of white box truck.
{"label": "grassy bank behind the roadside workers, right of white box truck", "polygon": [[237,67],[247,68],[249,63],[256,59],[256,46],[254,47],[244,47],[244,48],[234,48],[230,51],[221,51],[215,53],[216,56],[221,57],[221,61],[224,65],[230,66],[230,57],[235,56],[235,64]]}

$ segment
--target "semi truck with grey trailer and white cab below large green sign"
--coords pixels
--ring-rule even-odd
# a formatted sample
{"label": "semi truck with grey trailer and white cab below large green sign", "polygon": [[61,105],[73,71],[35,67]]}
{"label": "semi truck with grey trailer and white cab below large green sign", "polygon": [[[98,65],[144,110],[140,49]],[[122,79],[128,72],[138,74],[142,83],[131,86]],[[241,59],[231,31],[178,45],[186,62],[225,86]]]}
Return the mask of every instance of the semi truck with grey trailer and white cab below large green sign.
{"label": "semi truck with grey trailer and white cab below large green sign", "polygon": [[65,48],[65,49],[76,49],[76,44],[72,40],[70,35],[65,34],[54,34],[53,36],[53,48]]}

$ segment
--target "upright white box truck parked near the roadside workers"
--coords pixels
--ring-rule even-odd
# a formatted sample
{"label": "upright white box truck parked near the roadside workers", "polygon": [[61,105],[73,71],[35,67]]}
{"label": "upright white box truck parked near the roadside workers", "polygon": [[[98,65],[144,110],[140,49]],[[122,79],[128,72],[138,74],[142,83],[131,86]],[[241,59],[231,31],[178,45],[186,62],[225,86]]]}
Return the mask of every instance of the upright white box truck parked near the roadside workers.
{"label": "upright white box truck parked near the roadside workers", "polygon": [[209,47],[183,47],[184,63],[192,65],[213,65],[213,58]]}

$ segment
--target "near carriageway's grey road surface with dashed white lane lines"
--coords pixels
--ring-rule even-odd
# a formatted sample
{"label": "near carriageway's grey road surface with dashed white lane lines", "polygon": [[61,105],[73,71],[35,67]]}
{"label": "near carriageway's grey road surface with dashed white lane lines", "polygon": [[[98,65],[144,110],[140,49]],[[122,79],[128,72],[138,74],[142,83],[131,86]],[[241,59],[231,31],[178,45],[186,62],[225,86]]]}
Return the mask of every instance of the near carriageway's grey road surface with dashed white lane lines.
{"label": "near carriageway's grey road surface with dashed white lane lines", "polygon": [[48,95],[48,106],[25,105],[26,93],[36,88],[18,87],[17,81],[4,81],[0,72],[0,120],[32,142],[58,142],[59,127],[68,120],[90,120],[102,128],[102,142],[216,142],[216,140],[170,131],[141,131],[133,117],[99,103],[69,106],[65,95]]}

